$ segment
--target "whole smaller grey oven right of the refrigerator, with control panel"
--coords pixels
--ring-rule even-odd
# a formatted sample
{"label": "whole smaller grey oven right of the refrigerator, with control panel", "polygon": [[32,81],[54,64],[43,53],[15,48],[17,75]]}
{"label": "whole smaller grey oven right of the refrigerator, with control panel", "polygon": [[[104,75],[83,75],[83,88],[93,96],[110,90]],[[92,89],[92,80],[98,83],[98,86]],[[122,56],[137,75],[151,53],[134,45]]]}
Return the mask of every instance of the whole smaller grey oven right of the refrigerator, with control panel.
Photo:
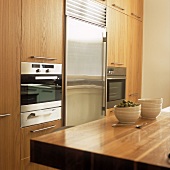
{"label": "whole smaller grey oven right of the refrigerator, with control panel", "polygon": [[125,99],[126,91],[126,68],[108,67],[107,68],[107,108]]}

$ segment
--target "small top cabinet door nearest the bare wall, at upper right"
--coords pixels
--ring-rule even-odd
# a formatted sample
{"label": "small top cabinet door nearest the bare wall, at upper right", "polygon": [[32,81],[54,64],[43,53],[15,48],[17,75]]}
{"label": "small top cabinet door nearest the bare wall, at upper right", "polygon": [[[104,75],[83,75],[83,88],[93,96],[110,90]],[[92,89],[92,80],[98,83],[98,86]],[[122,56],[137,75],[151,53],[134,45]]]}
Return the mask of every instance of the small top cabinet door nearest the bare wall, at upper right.
{"label": "small top cabinet door nearest the bare wall, at upper right", "polygon": [[129,15],[140,21],[143,20],[143,0],[129,1]]}

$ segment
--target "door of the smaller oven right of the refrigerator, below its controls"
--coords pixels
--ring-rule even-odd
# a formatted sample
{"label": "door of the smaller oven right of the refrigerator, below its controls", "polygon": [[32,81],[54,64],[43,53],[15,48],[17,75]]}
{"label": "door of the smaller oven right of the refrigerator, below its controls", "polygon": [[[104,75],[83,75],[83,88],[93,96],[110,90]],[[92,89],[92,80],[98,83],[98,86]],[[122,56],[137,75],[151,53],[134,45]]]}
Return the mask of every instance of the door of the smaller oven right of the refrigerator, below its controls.
{"label": "door of the smaller oven right of the refrigerator, below its controls", "polygon": [[125,76],[107,78],[107,108],[113,108],[125,99],[125,88]]}

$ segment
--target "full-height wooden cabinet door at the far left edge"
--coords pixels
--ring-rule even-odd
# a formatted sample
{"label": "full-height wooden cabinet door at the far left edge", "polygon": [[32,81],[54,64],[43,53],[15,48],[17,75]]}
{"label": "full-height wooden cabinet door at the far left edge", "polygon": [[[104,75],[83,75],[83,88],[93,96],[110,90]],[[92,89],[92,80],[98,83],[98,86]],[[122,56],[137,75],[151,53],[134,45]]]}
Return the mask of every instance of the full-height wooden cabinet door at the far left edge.
{"label": "full-height wooden cabinet door at the far left edge", "polygon": [[20,169],[20,0],[0,1],[0,169]]}

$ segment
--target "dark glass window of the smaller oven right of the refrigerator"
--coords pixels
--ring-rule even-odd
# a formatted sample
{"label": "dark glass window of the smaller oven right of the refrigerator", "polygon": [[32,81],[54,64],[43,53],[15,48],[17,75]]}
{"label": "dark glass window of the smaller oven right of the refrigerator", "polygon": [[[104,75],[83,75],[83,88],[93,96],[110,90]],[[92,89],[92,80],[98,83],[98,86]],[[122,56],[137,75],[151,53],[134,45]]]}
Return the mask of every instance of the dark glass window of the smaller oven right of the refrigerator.
{"label": "dark glass window of the smaller oven right of the refrigerator", "polygon": [[125,79],[107,80],[107,102],[125,98]]}

